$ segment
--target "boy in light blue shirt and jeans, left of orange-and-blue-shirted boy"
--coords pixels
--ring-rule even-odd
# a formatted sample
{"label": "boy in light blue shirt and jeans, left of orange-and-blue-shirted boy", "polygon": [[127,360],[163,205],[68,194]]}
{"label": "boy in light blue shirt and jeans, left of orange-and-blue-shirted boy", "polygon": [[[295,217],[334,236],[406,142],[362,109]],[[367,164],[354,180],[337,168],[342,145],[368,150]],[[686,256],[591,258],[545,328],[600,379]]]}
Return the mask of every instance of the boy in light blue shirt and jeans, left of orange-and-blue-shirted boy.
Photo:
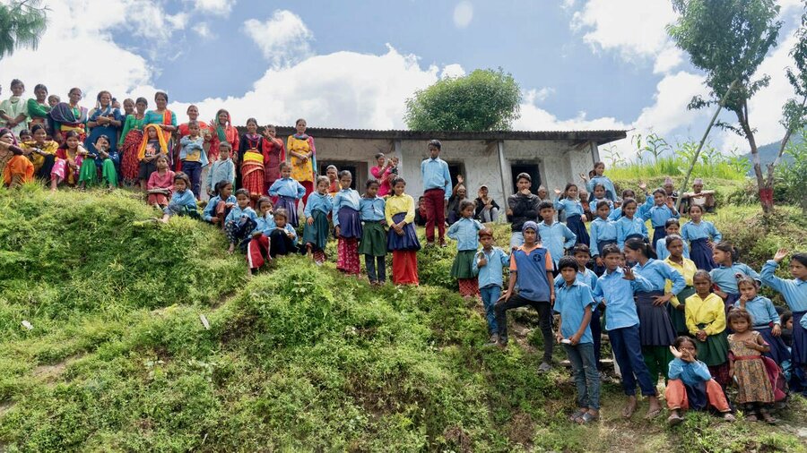
{"label": "boy in light blue shirt and jeans, left of orange-and-blue-shirted boy", "polygon": [[494,306],[501,295],[501,269],[510,261],[507,252],[493,246],[493,231],[482,228],[479,232],[479,243],[482,250],[476,252],[473,260],[473,274],[479,276],[479,293],[485,307],[485,318],[488,320],[490,344],[499,343],[499,326],[496,324],[496,311]]}

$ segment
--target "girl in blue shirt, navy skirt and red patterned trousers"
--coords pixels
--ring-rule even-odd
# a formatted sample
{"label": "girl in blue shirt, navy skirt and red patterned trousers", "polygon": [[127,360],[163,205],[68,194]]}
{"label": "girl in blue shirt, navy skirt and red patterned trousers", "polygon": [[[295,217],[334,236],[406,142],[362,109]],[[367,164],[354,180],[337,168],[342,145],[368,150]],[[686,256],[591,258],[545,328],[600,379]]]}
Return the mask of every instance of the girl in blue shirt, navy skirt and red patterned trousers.
{"label": "girl in blue shirt, navy skirt and red patterned trousers", "polygon": [[359,192],[351,189],[353,176],[351,172],[339,172],[339,185],[342,190],[336,192],[332,218],[337,245],[336,269],[346,274],[359,275],[361,264],[359,261],[359,239],[361,238],[361,197]]}

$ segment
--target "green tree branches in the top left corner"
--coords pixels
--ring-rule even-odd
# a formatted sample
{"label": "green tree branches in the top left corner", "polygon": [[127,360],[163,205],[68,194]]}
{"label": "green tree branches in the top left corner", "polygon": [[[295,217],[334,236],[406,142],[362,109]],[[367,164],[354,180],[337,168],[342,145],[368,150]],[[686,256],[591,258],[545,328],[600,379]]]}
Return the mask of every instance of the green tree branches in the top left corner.
{"label": "green tree branches in the top left corner", "polygon": [[0,3],[0,59],[21,47],[36,49],[48,26],[48,8],[40,0],[13,0]]}

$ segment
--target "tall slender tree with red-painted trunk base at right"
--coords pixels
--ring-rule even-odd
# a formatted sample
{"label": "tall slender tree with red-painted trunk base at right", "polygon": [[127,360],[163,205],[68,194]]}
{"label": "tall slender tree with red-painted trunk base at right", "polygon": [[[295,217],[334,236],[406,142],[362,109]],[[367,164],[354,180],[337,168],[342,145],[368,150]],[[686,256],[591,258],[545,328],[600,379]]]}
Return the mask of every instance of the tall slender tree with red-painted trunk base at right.
{"label": "tall slender tree with red-painted trunk base at right", "polygon": [[759,201],[768,214],[773,192],[765,188],[748,101],[770,80],[765,74],[752,77],[768,50],[777,45],[782,27],[777,21],[779,6],[774,0],[672,0],[672,7],[680,16],[667,30],[690,54],[691,63],[706,73],[709,89],[709,99],[696,96],[689,108],[719,106],[737,116],[737,124],[718,121],[717,126],[748,141]]}

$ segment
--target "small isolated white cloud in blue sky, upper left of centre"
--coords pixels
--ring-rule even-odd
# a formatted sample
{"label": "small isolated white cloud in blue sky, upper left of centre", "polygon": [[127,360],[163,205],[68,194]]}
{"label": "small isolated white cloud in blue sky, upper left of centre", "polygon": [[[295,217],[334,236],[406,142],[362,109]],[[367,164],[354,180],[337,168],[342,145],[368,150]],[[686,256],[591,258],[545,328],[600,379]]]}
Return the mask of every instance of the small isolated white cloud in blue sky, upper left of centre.
{"label": "small isolated white cloud in blue sky, upper left of centre", "polygon": [[265,22],[249,19],[244,22],[244,30],[275,67],[297,63],[311,55],[308,41],[314,34],[291,11],[277,10]]}

